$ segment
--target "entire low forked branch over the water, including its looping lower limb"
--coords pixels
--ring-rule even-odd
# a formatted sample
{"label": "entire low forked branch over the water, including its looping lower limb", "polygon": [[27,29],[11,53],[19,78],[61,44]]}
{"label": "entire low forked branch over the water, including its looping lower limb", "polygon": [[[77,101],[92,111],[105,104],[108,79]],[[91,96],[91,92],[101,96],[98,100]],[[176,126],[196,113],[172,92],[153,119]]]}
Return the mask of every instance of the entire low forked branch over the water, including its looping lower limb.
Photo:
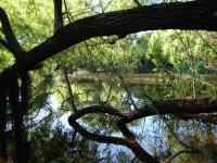
{"label": "entire low forked branch over the water, including its looping lower limb", "polygon": [[[135,120],[150,116],[150,115],[161,115],[169,113],[207,113],[207,112],[217,112],[217,102],[214,98],[205,99],[193,99],[193,100],[176,100],[176,101],[165,101],[156,102],[151,105],[145,105],[139,108],[138,110],[123,110],[116,109],[106,105],[92,105],[87,106],[81,110],[78,110],[76,114],[72,114],[68,117],[68,123],[74,127],[81,136],[98,142],[104,143],[115,143],[126,146],[132,150],[138,159],[145,162],[158,162],[148,152],[145,152],[142,147],[138,143],[135,136],[127,128],[126,124]],[[118,116],[117,122],[113,122],[123,133],[125,138],[112,137],[112,136],[102,136],[100,134],[89,133],[86,128],[79,125],[76,120],[85,116],[89,113],[106,113],[111,115]],[[196,150],[194,152],[197,152]]]}

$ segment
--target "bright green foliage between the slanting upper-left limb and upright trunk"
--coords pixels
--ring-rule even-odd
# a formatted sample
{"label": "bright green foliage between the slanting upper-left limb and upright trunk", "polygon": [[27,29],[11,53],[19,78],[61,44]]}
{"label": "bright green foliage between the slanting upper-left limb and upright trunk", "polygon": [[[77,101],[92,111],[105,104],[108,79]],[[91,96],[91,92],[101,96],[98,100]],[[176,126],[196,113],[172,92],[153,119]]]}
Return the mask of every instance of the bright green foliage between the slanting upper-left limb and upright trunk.
{"label": "bright green foliage between the slanting upper-left limb and upright trunk", "polygon": [[25,50],[30,50],[52,35],[52,2],[2,0],[0,5],[5,9],[14,34]]}

